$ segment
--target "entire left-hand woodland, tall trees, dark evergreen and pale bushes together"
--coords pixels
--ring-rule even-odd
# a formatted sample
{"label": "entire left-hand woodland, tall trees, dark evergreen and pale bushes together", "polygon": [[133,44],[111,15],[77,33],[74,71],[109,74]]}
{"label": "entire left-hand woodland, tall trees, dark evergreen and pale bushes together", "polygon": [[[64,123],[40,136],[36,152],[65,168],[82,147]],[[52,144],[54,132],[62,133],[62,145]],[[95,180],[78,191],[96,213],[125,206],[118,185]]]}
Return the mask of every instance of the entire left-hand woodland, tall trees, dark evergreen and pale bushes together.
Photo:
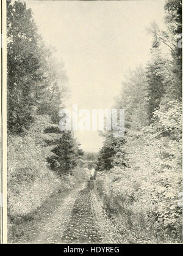
{"label": "entire left-hand woodland, tall trees, dark evergreen and pale bushes together", "polygon": [[26,3],[7,1],[10,223],[32,213],[53,192],[70,190],[85,179],[84,152],[73,133],[60,132],[58,126],[68,78],[55,56],[56,50],[38,34]]}

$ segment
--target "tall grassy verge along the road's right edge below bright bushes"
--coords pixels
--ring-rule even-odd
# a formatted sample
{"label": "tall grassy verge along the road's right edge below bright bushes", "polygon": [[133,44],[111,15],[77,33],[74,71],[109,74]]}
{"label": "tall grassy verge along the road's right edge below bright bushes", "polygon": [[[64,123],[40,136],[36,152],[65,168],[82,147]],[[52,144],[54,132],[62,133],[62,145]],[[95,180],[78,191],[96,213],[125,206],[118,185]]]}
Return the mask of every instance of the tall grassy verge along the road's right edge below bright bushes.
{"label": "tall grassy verge along the road's right edge below bright bushes", "polygon": [[178,238],[168,235],[156,217],[148,215],[148,211],[140,205],[135,208],[133,200],[123,200],[121,194],[107,186],[110,175],[105,173],[96,180],[95,191],[102,201],[103,209],[109,219],[118,228],[119,233],[126,230],[129,243],[181,243]]}

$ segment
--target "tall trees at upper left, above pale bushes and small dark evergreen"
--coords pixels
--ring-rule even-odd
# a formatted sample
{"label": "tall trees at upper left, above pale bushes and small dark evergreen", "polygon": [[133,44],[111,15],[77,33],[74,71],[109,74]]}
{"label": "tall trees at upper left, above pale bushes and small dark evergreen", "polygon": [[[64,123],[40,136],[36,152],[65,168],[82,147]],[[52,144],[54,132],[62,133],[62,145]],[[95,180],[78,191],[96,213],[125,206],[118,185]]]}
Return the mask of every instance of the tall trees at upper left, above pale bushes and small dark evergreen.
{"label": "tall trees at upper left, above pale bushes and small dark evergreen", "polygon": [[7,1],[7,127],[19,134],[36,115],[58,121],[66,75],[63,64],[38,35],[31,9],[22,1]]}

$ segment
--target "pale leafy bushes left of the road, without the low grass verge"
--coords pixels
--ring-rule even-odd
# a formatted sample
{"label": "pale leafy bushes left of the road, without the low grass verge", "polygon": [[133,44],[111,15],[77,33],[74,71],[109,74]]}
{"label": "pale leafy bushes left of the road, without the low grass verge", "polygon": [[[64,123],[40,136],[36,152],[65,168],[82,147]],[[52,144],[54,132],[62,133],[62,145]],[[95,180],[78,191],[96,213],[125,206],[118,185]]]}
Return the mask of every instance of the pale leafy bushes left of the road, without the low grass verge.
{"label": "pale leafy bushes left of the road, without the low grass verge", "polygon": [[69,191],[88,179],[79,165],[67,176],[49,168],[46,157],[52,156],[54,146],[48,145],[43,134],[49,119],[37,119],[24,136],[9,135],[8,215],[13,222],[34,212],[52,193]]}

